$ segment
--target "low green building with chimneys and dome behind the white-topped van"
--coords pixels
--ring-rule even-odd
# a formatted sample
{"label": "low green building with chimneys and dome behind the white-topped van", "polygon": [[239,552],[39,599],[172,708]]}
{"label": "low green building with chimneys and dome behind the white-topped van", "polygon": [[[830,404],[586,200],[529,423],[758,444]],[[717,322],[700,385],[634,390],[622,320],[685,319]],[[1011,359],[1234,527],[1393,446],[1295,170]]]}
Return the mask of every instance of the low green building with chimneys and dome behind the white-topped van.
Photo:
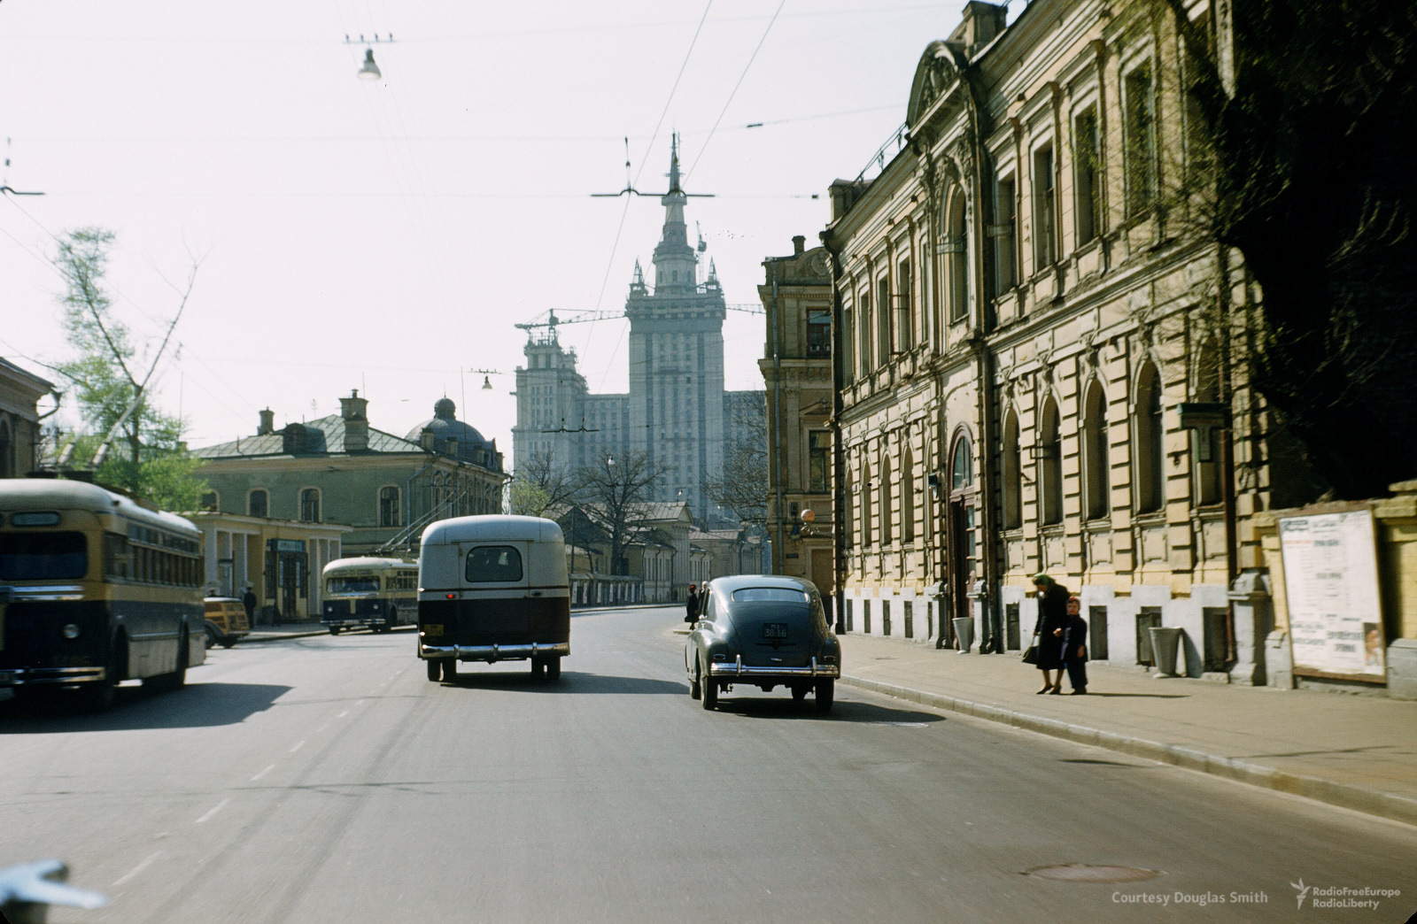
{"label": "low green building with chimneys and dome behind the white-topped van", "polygon": [[370,427],[367,410],[356,391],[340,398],[340,414],[279,431],[262,411],[255,436],[197,451],[211,488],[204,507],[353,526],[344,556],[410,553],[435,520],[502,512],[502,453],[451,400],[407,438]]}

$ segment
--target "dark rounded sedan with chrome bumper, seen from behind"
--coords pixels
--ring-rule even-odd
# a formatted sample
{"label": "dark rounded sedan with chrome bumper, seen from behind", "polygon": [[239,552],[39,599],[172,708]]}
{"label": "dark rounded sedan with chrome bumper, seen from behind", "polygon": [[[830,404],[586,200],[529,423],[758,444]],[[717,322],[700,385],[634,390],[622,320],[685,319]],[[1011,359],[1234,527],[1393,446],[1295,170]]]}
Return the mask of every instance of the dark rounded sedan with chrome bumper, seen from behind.
{"label": "dark rounded sedan with chrome bumper, seen from behind", "polygon": [[684,645],[689,694],[704,709],[720,690],[747,683],[792,699],[816,692],[816,711],[832,710],[842,645],[826,624],[816,585],[794,577],[743,574],[708,584]]}

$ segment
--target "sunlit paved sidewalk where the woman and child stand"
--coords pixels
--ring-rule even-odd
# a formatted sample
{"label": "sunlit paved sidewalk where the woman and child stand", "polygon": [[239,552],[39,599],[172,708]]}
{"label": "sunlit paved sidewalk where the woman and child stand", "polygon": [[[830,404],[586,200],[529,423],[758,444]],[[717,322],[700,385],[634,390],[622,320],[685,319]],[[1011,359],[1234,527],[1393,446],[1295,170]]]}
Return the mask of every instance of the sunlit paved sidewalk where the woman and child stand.
{"label": "sunlit paved sidewalk where the woman and child stand", "polygon": [[1007,655],[843,635],[842,683],[1417,825],[1417,702],[1243,687],[1088,665],[1036,696]]}

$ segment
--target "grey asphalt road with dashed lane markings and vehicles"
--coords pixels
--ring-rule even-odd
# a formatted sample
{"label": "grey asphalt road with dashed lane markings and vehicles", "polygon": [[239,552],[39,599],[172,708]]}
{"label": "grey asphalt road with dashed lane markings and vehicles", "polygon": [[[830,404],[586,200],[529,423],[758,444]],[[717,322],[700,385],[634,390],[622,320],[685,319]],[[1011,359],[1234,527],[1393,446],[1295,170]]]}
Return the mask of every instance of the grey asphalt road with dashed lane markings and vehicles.
{"label": "grey asphalt road with dashed lane markings and vehicles", "polygon": [[[828,717],[744,687],[706,713],[687,694],[677,621],[577,616],[554,686],[520,662],[429,683],[400,632],[215,650],[186,689],[125,686],[101,716],[0,702],[0,866],[61,856],[75,884],[111,898],[52,921],[1417,910],[1417,829],[1403,825],[847,686]],[[1159,873],[1024,874],[1070,863]],[[1301,877],[1404,896],[1377,911],[1298,910]]]}

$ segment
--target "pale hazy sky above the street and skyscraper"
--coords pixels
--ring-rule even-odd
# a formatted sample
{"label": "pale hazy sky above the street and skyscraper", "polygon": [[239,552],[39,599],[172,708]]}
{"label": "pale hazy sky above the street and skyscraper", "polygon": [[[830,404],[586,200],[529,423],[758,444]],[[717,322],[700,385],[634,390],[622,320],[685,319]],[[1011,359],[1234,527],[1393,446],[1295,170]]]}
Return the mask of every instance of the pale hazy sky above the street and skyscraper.
{"label": "pale hazy sky above the street and skyscraper", "polygon": [[[513,325],[618,315],[650,265],[659,200],[591,197],[626,186],[625,139],[662,193],[680,133],[684,188],[713,194],[690,235],[727,302],[758,305],[762,259],[816,244],[828,184],[904,120],[961,6],[4,0],[0,183],[44,196],[0,197],[0,356],[44,376],[69,354],[48,261],[109,228],[113,310],[149,353],[196,268],[154,373],[190,445],[359,388],[400,435],[451,397],[510,459]],[[366,48],[383,79],[356,79]],[[560,329],[591,391],[628,388],[628,327]],[[761,388],[762,317],[730,312],[724,340],[727,387]]]}

